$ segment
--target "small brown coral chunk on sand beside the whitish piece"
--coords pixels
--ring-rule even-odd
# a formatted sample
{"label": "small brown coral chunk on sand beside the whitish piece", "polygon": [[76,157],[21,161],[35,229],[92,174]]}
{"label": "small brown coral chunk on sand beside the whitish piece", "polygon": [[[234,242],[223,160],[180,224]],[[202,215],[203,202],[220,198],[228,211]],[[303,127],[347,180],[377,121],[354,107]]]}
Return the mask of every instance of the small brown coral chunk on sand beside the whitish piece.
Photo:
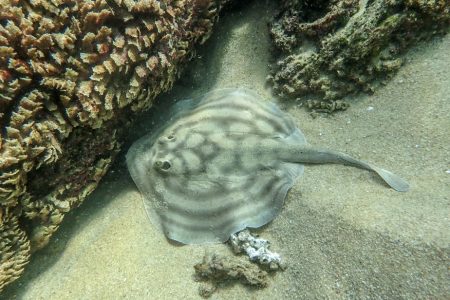
{"label": "small brown coral chunk on sand beside the whitish piece", "polygon": [[205,255],[203,262],[194,266],[199,281],[207,282],[200,286],[202,297],[209,297],[222,283],[240,281],[254,287],[266,287],[267,272],[257,265],[233,257]]}

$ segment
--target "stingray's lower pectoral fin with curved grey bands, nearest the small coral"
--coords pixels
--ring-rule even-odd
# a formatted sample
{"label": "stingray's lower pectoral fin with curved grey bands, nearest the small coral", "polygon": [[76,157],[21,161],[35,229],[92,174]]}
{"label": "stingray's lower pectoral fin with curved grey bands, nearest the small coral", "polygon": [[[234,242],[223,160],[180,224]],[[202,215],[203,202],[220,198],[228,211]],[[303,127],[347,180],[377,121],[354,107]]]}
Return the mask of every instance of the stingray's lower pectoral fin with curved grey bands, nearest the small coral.
{"label": "stingray's lower pectoral fin with curved grey bands, nearest the small coral", "polygon": [[127,158],[148,217],[168,238],[184,244],[224,242],[235,232],[267,224],[303,173],[301,164],[279,163],[248,173],[229,168],[220,174],[164,176],[146,161],[145,152]]}

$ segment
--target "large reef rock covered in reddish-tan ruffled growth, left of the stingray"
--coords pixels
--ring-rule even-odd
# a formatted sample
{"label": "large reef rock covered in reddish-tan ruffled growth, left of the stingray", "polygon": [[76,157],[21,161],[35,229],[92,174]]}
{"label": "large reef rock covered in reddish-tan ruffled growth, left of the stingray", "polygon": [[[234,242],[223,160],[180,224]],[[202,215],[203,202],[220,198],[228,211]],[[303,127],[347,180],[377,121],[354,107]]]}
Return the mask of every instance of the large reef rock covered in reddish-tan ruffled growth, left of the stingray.
{"label": "large reef rock covered in reddish-tan ruffled growth, left of the stingray", "polygon": [[0,0],[0,290],[96,187],[225,1]]}

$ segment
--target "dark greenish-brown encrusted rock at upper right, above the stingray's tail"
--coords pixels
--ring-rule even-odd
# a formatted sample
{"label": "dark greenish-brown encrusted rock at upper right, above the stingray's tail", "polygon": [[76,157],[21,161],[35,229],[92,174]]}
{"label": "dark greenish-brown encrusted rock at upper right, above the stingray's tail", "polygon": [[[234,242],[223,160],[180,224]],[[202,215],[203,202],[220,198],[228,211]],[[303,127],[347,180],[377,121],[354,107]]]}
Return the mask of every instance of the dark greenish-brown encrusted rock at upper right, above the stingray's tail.
{"label": "dark greenish-brown encrusted rock at upper right, above the stingray's tail", "polygon": [[269,80],[282,97],[309,95],[313,108],[343,109],[323,101],[372,92],[402,65],[400,54],[449,24],[446,0],[282,1],[271,26],[281,58]]}

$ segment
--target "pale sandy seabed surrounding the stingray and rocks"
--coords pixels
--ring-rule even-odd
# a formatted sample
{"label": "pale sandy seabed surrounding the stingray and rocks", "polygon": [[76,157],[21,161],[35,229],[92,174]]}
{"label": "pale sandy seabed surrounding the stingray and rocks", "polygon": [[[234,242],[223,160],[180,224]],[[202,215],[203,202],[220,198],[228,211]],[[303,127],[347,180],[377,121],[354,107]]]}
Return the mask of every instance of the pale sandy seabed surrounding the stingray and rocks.
{"label": "pale sandy seabed surrounding the stingray and rocks", "polygon": [[[224,17],[158,103],[221,87],[246,87],[273,98],[265,84],[273,11],[268,3],[255,1]],[[345,112],[313,118],[295,103],[280,104],[309,143],[385,167],[409,181],[411,190],[395,192],[355,168],[306,166],[281,214],[259,230],[287,270],[271,277],[265,289],[234,284],[211,299],[450,298],[448,49],[449,35],[411,50],[388,84],[374,95],[355,97]],[[152,112],[143,116],[130,136],[145,134],[151,117]],[[231,255],[230,250],[168,242],[147,220],[124,154],[5,298],[200,298],[193,265],[205,253]]]}

